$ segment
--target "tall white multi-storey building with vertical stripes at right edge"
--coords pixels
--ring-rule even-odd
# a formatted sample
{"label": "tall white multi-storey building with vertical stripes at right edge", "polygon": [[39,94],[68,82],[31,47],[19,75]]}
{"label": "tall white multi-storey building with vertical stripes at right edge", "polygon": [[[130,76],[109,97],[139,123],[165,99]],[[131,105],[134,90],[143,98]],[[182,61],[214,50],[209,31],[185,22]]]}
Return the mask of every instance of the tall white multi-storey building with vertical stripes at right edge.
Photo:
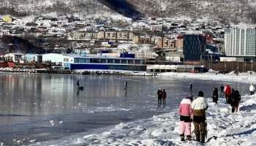
{"label": "tall white multi-storey building with vertical stripes at right edge", "polygon": [[226,55],[256,57],[256,29],[226,29],[225,53]]}

